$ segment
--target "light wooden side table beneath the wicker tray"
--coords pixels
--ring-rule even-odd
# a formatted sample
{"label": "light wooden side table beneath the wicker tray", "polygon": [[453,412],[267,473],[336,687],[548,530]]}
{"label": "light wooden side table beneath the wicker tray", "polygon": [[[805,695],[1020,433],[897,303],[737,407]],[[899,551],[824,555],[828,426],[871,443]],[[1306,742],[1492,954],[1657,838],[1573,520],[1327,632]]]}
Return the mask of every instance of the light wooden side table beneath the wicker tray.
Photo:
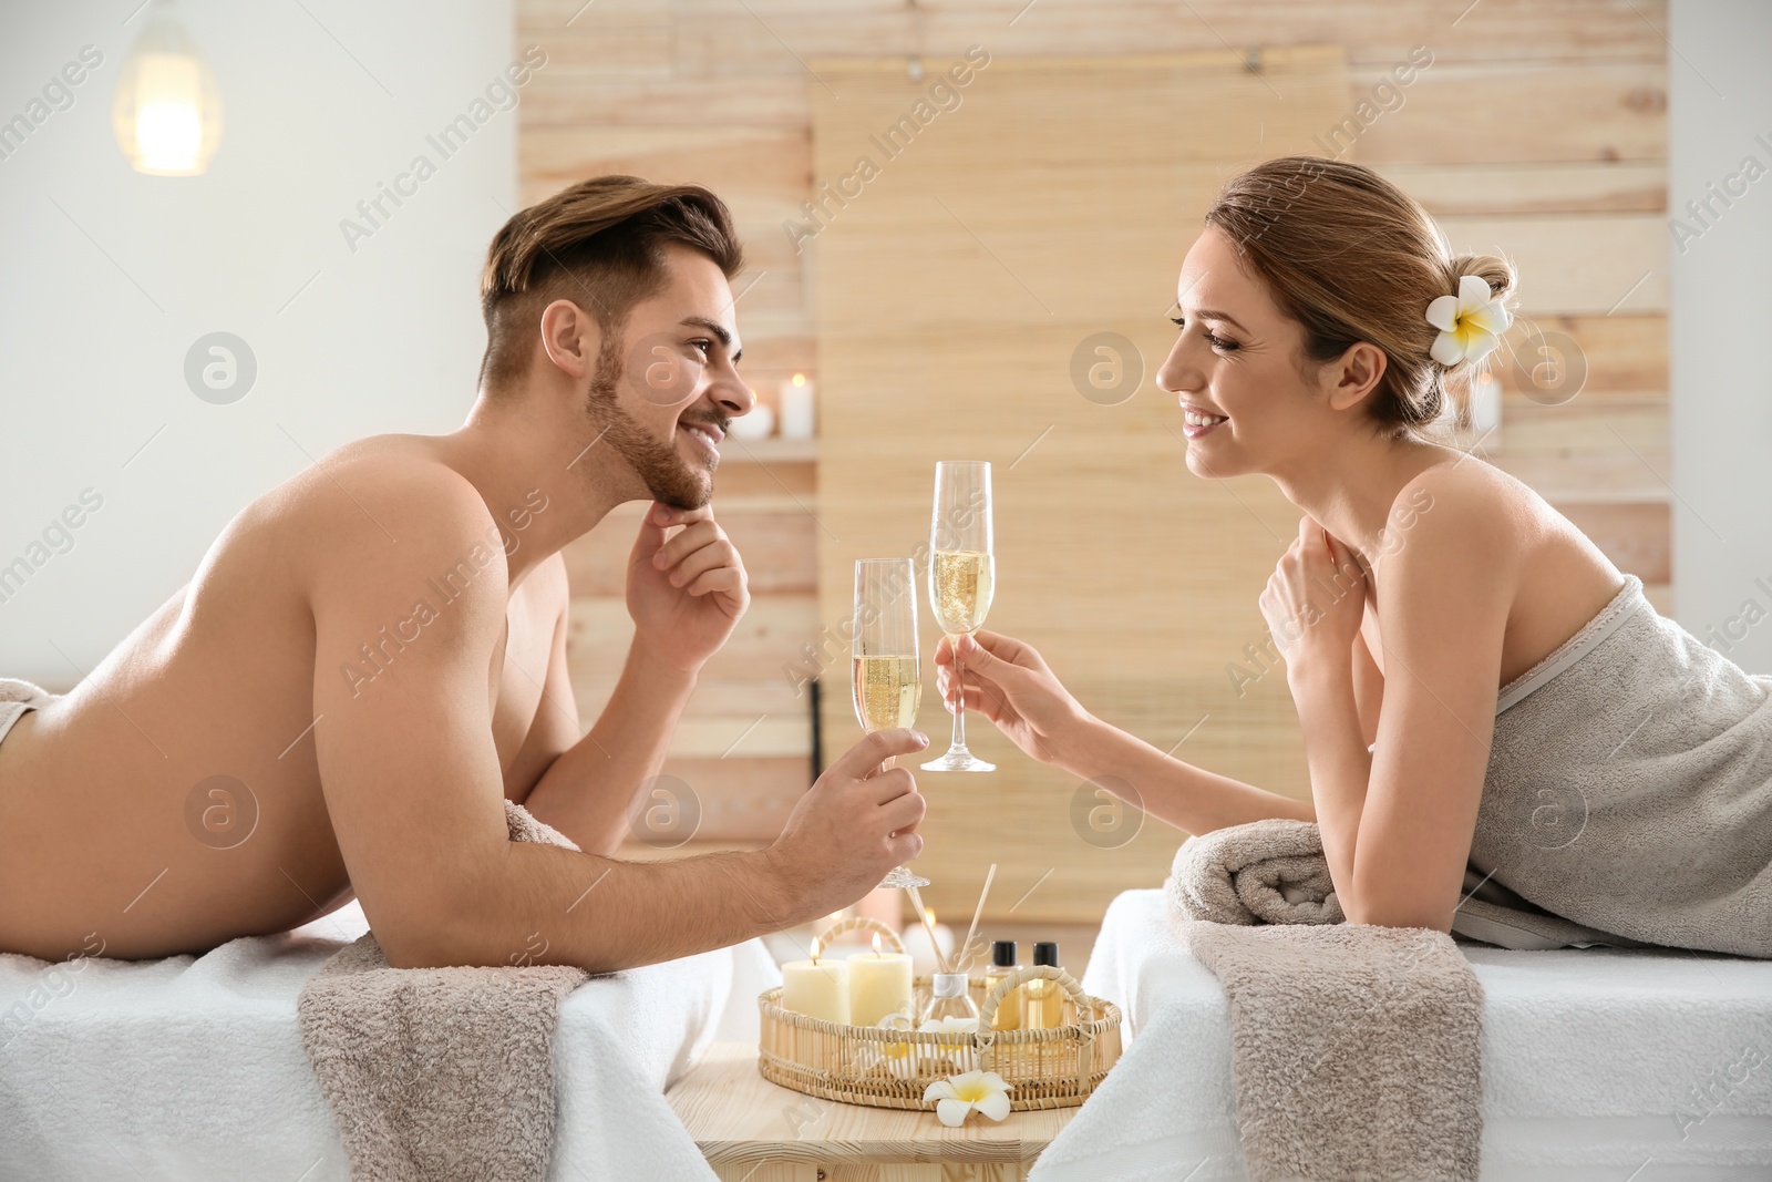
{"label": "light wooden side table beneath the wicker tray", "polygon": [[959,1129],[934,1111],[820,1100],[764,1079],[757,1047],[714,1044],[664,1093],[721,1182],[1021,1182],[1077,1111],[973,1113]]}

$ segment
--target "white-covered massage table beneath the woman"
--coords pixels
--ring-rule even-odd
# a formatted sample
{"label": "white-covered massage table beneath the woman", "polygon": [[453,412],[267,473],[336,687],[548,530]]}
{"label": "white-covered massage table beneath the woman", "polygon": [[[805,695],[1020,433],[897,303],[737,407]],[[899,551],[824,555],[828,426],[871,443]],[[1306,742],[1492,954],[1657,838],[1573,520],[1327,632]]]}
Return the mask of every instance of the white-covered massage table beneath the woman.
{"label": "white-covered massage table beneath the woman", "polygon": [[[1483,1182],[1772,1178],[1772,962],[1460,948],[1485,992]],[[1162,891],[1113,902],[1083,987],[1132,1040],[1031,1180],[1244,1180],[1224,992]]]}

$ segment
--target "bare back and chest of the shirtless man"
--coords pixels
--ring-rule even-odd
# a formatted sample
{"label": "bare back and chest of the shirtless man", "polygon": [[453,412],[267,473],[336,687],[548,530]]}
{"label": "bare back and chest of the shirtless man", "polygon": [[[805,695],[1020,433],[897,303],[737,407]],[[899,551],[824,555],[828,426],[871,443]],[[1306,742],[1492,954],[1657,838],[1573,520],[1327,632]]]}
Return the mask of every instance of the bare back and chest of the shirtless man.
{"label": "bare back and chest of the shirtless man", "polygon": [[[0,744],[0,948],[60,959],[96,932],[115,957],[202,952],[351,898],[315,760],[324,719],[305,572],[340,560],[338,517],[360,512],[347,494],[365,466],[445,475],[436,452],[420,436],[363,439],[260,496],[105,665],[14,725]],[[510,507],[501,528],[491,514],[468,528],[514,553],[517,525],[546,510],[542,494]],[[416,587],[415,603],[447,610],[462,571],[486,574],[462,558],[450,581]],[[507,638],[486,672],[505,796],[519,805],[540,774],[525,741],[565,606],[556,555],[510,588]],[[422,627],[390,618],[335,677],[361,696],[424,643]]]}

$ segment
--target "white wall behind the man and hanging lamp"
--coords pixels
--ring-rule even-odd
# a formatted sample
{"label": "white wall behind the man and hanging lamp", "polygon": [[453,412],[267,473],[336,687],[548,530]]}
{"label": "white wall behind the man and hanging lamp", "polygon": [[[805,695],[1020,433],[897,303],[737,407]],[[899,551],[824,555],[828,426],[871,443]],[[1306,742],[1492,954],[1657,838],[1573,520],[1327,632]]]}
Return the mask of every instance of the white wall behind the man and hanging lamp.
{"label": "white wall behind the man and hanging lamp", "polygon": [[[521,51],[510,0],[183,0],[227,119],[200,177],[140,175],[112,136],[136,4],[0,7],[0,121],[82,46],[103,53],[73,106],[0,159],[0,567],[83,489],[103,496],[0,603],[0,675],[51,686],[310,455],[461,422],[486,342],[478,266],[516,209],[514,110],[448,159],[425,142]],[[351,252],[340,220],[420,152],[436,175]],[[259,365],[229,406],[184,381],[218,330]]]}

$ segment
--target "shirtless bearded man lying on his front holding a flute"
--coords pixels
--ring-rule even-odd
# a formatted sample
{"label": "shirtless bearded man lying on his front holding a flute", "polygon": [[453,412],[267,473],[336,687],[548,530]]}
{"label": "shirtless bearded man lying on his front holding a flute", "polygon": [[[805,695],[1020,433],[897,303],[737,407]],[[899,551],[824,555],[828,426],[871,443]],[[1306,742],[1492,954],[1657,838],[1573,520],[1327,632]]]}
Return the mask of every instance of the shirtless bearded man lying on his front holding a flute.
{"label": "shirtless bearded man lying on his front holding a flute", "polygon": [[[351,443],[255,500],[186,588],[4,737],[0,952],[195,953],[354,893],[393,966],[501,966],[540,934],[540,960],[604,971],[828,914],[916,858],[923,797],[879,767],[929,741],[891,730],[769,849],[611,859],[750,603],[709,509],[716,445],[755,400],[739,268],[698,186],[599,177],[516,214],[487,253],[466,424]],[[560,548],[643,498],[634,642],[579,737]],[[188,824],[248,808],[198,787],[216,776],[255,803],[237,844]],[[501,796],[585,852],[512,844]]]}

